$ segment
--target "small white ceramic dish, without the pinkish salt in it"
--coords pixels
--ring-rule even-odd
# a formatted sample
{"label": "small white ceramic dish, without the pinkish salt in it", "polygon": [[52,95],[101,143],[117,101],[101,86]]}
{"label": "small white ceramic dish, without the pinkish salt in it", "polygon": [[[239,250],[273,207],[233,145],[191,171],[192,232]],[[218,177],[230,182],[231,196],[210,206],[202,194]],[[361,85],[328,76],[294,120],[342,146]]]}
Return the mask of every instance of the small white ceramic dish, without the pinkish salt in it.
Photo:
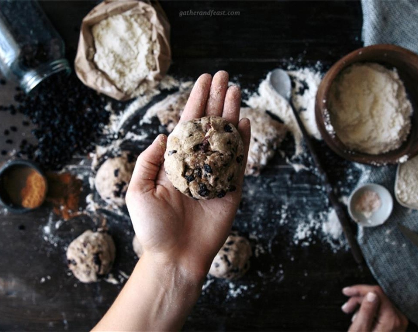
{"label": "small white ceramic dish, without the pinkish salt in it", "polygon": [[[372,213],[370,218],[367,218],[363,213],[358,212],[354,209],[355,204],[359,197],[366,191],[372,190],[380,198],[380,208],[378,208],[375,212]],[[359,225],[364,227],[374,227],[382,225],[387,218],[389,218],[390,213],[392,213],[393,209],[393,198],[390,195],[389,190],[387,190],[382,185],[377,185],[375,183],[368,183],[366,185],[362,185],[356,188],[348,199],[348,212],[350,217]]]}

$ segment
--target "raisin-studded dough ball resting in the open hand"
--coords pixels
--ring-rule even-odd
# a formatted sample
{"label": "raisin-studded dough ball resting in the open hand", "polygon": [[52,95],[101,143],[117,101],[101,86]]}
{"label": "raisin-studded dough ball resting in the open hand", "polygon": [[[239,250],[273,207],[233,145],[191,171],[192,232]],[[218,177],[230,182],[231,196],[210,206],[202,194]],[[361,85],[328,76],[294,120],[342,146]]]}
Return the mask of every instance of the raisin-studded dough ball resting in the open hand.
{"label": "raisin-studded dough ball resting in the open hand", "polygon": [[180,122],[168,136],[164,167],[173,186],[196,199],[236,190],[244,160],[237,129],[222,117]]}

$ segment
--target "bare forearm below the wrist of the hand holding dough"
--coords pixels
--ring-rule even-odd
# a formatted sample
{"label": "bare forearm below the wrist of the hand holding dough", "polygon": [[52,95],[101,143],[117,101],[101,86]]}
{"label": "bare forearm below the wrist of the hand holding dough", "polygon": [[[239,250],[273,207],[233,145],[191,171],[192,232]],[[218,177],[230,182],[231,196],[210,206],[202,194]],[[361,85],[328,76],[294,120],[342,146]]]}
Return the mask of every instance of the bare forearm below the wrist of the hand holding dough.
{"label": "bare forearm below the wrist of the hand holding dough", "polygon": [[203,278],[144,254],[95,331],[179,330],[199,298]]}

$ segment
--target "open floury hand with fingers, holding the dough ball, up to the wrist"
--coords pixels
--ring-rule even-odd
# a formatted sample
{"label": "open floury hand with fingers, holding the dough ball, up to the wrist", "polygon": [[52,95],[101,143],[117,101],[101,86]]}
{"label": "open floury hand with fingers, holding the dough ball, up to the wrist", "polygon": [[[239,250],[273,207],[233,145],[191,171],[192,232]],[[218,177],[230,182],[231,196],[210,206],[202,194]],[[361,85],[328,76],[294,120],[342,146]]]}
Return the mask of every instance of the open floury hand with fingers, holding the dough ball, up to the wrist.
{"label": "open floury hand with fingers, holding the dough ball, up to the wrist", "polygon": [[[180,121],[222,116],[237,127],[244,142],[244,163],[250,142],[250,122],[239,120],[241,93],[228,88],[228,73],[196,81]],[[144,254],[177,261],[188,271],[206,274],[232,227],[241,198],[245,166],[237,190],[224,198],[194,200],[176,190],[163,167],[167,137],[159,135],[135,165],[127,190],[127,208]]]}

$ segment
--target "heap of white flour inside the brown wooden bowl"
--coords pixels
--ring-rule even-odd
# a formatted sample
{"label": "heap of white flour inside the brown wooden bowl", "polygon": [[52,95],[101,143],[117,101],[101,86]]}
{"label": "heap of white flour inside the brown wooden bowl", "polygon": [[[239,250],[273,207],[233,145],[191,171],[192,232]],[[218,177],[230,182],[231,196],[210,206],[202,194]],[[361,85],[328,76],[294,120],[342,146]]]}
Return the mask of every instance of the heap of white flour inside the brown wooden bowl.
{"label": "heap of white flour inside the brown wooden bowl", "polygon": [[396,68],[354,64],[331,85],[329,113],[336,135],[372,155],[398,149],[410,132],[412,105]]}

